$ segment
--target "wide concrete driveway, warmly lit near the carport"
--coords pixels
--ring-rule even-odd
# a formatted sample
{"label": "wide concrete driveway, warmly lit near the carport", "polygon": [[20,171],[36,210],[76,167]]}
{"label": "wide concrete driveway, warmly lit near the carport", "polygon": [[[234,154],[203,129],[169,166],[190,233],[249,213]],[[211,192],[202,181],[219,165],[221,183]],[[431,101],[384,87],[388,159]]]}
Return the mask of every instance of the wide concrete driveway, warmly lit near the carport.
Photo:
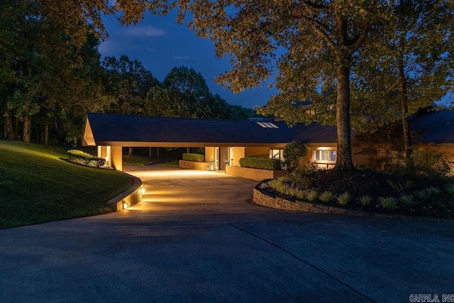
{"label": "wide concrete driveway, warmly lit near the carport", "polygon": [[126,211],[0,230],[0,302],[409,302],[415,294],[441,302],[454,294],[454,224],[267,209],[248,201],[254,181],[127,168],[147,192]]}

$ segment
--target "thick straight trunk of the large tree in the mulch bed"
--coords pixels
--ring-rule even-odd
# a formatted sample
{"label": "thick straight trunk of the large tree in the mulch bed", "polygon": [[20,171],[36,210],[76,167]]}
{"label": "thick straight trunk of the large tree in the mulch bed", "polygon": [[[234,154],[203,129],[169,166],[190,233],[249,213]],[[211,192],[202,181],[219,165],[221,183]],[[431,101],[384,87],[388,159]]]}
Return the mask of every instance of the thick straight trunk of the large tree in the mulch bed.
{"label": "thick straight trunk of the large tree in the mulch bed", "polygon": [[336,126],[338,150],[335,169],[353,170],[350,128],[350,55],[343,55],[338,67]]}

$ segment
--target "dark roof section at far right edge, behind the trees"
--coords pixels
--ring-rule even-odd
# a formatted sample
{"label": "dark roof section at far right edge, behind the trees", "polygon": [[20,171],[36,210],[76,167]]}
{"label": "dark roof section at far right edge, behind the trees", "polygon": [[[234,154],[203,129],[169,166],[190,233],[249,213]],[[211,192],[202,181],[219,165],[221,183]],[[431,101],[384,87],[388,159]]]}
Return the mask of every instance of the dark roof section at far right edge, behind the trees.
{"label": "dark roof section at far right edge, behind the trees", "polygon": [[410,128],[423,143],[454,143],[454,111],[416,114],[410,119]]}

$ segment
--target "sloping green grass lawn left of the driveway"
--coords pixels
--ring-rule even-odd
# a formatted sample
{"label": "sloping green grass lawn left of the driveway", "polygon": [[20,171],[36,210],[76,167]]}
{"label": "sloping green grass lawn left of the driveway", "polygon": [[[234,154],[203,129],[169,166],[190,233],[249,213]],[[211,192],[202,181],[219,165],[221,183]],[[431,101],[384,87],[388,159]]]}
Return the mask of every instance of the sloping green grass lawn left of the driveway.
{"label": "sloping green grass lawn left of the driveway", "polygon": [[61,148],[0,141],[0,228],[104,214],[105,202],[133,184],[66,158]]}

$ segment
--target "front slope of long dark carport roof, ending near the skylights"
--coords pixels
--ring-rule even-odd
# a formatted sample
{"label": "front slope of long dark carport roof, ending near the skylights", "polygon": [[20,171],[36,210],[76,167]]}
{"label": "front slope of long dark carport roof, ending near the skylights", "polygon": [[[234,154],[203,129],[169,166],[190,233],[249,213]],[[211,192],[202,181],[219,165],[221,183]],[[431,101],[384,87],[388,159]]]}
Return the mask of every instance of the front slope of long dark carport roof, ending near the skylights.
{"label": "front slope of long dark carport roof, ending near the skylights", "polygon": [[253,121],[87,114],[96,142],[287,143],[294,128],[262,128]]}

